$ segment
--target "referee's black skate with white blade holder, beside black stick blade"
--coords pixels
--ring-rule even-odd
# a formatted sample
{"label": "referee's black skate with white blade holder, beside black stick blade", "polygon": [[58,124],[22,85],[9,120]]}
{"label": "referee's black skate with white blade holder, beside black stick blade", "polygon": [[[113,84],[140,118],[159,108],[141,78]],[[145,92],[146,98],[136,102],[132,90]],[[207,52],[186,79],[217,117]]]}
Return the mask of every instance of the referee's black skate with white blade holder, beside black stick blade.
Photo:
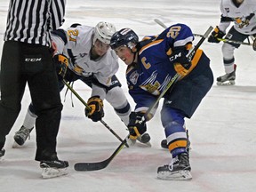
{"label": "referee's black skate with white blade holder, beside black stick blade", "polygon": [[40,167],[43,169],[42,176],[44,179],[60,177],[68,174],[68,161],[41,161]]}

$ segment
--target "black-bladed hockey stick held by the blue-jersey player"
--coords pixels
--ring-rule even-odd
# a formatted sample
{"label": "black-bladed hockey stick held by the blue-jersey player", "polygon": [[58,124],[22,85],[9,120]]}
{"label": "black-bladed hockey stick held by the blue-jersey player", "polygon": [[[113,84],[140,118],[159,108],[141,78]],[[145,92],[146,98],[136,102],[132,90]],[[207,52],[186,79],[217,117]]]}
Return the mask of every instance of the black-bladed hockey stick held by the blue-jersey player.
{"label": "black-bladed hockey stick held by the blue-jersey player", "polygon": [[[190,52],[190,54],[188,55],[188,60],[192,60],[193,56],[196,53],[196,50],[199,48],[199,46],[201,44],[203,44],[204,39],[207,38],[207,36],[209,36],[211,31],[212,31],[212,26],[210,26],[207,29],[204,36],[201,37],[200,41],[196,44],[196,46],[194,47],[192,52]],[[146,116],[148,116],[148,114],[151,112],[151,110],[156,107],[159,100],[161,100],[161,98],[164,96],[164,93],[167,92],[170,89],[170,87],[172,86],[172,84],[175,84],[175,82],[179,78],[180,78],[180,75],[178,75],[178,74],[176,74],[175,76],[172,77],[171,81],[166,85],[164,91],[158,96],[155,103],[150,108],[148,108],[148,110],[144,116],[144,121],[145,121]],[[129,135],[122,141],[122,143],[116,148],[114,153],[108,157],[108,159],[101,161],[101,162],[95,162],[95,163],[76,163],[74,166],[75,170],[83,172],[83,171],[96,171],[96,170],[101,170],[101,169],[106,168],[108,166],[108,164],[113,160],[113,158],[121,151],[121,149],[124,148],[125,143],[127,143],[127,140],[129,140],[128,138],[129,138]]]}

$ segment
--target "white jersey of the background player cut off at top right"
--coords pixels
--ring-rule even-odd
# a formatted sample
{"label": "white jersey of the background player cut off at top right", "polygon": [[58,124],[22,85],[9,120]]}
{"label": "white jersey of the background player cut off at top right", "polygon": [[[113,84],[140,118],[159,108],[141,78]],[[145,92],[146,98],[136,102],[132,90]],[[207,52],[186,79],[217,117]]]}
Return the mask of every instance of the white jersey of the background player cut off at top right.
{"label": "white jersey of the background player cut off at top right", "polygon": [[232,0],[221,0],[221,16],[231,20],[221,20],[219,28],[226,33],[231,21],[235,22],[234,28],[244,35],[256,34],[256,0],[244,0],[239,7]]}

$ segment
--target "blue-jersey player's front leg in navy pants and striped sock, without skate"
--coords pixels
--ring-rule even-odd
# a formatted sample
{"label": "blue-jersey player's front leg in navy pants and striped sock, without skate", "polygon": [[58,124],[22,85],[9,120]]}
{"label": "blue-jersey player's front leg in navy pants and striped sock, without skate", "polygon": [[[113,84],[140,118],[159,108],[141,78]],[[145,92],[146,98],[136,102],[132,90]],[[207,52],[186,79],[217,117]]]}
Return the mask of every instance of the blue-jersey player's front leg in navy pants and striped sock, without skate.
{"label": "blue-jersey player's front leg in navy pants and striped sock, without skate", "polygon": [[188,140],[184,118],[193,116],[212,83],[212,70],[207,67],[200,75],[187,76],[177,82],[172,92],[165,96],[161,121],[172,157],[186,151]]}

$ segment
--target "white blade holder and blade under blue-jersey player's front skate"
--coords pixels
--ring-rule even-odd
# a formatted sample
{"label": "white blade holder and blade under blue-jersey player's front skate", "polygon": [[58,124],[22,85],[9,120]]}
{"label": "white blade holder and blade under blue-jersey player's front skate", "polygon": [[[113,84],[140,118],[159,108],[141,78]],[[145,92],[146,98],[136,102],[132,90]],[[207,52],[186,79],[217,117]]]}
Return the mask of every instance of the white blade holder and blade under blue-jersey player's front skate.
{"label": "white blade holder and blade under blue-jersey player's front skate", "polygon": [[157,179],[159,180],[192,180],[192,175],[188,170],[178,172],[158,172]]}

